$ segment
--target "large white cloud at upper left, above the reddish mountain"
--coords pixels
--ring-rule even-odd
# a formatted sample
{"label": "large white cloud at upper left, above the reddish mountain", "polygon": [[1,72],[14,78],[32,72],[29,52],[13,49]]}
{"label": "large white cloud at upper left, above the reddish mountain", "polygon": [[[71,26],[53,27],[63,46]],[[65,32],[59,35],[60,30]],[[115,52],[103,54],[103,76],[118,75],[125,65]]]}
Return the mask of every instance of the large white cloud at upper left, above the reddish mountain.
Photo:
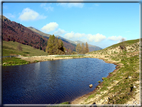
{"label": "large white cloud at upper left, above the reddish mountain", "polygon": [[23,9],[19,19],[22,21],[30,21],[30,20],[38,20],[38,19],[45,19],[46,16],[39,15],[36,11],[30,9],[30,8],[25,8]]}

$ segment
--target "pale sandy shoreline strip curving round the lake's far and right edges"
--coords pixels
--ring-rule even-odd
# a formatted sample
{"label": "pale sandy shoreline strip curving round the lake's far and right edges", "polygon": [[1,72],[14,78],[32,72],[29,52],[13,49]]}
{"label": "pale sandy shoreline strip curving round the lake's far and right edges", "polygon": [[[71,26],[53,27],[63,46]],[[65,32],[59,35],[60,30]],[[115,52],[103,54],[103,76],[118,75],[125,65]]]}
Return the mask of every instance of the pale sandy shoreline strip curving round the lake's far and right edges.
{"label": "pale sandy shoreline strip curving round the lake's far and right edges", "polygon": [[[81,56],[80,57],[51,57],[51,56],[50,57],[49,56],[31,56],[31,57],[23,57],[22,56],[22,57],[20,57],[20,59],[25,60],[25,61],[29,61],[30,63],[52,61],[52,60],[63,60],[63,59],[77,59],[77,58],[97,58],[97,57],[88,57],[88,56],[86,56],[86,57],[81,57]],[[120,63],[115,62],[115,61],[108,61],[105,58],[97,58],[97,59],[101,59],[105,63],[115,64],[116,65],[116,67],[115,67],[116,69],[114,71],[112,71],[112,73],[117,72],[117,70],[121,66]],[[111,76],[113,76],[112,73],[109,73],[106,78],[110,78]],[[98,90],[97,87],[100,87],[100,86],[102,86],[102,82],[99,83],[93,91],[91,91],[91,92],[89,92],[87,94],[84,94],[84,95],[82,95],[82,96],[80,96],[80,97],[70,101],[70,104],[77,104],[78,101],[83,101],[85,98],[88,98],[88,96],[90,96],[91,94],[95,93]],[[88,84],[88,87],[89,87],[89,84]]]}

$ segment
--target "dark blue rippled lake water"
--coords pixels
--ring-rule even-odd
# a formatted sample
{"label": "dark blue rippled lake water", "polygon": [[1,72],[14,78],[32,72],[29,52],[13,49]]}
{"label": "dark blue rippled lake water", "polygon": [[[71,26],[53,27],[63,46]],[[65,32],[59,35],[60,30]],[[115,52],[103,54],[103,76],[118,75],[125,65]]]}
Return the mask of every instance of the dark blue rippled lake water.
{"label": "dark blue rippled lake water", "polygon": [[[95,58],[2,67],[3,104],[57,104],[95,89],[116,65]],[[89,88],[93,84],[93,88]]]}

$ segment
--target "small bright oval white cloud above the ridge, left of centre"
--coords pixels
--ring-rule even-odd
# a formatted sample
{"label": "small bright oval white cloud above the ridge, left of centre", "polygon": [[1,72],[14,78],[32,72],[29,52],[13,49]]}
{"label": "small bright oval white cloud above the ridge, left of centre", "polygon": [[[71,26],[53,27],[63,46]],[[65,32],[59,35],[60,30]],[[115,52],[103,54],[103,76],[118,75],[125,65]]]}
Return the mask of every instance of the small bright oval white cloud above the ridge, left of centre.
{"label": "small bright oval white cloud above the ridge, left of centre", "polygon": [[49,24],[46,24],[41,28],[42,31],[50,32],[54,31],[58,27],[58,24],[56,22],[50,22]]}

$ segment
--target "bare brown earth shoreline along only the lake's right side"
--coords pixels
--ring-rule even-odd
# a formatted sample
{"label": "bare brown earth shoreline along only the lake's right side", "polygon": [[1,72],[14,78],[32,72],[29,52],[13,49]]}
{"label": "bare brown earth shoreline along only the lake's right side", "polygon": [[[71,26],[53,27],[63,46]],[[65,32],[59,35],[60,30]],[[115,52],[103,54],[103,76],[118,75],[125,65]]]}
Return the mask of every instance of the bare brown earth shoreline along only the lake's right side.
{"label": "bare brown earth shoreline along only the lake's right side", "polygon": [[[91,58],[96,58],[96,57],[91,57]],[[116,72],[120,69],[120,67],[121,67],[121,64],[120,64],[120,63],[116,63],[116,62],[114,62],[114,61],[107,61],[107,60],[104,59],[104,58],[97,58],[97,59],[101,59],[101,60],[103,60],[103,61],[106,62],[106,63],[111,63],[111,64],[116,65],[116,67],[115,67],[116,69],[115,69],[114,71],[112,71],[112,73],[116,73]],[[112,73],[109,73],[109,75],[108,75],[106,78],[110,78],[111,76],[113,76]],[[94,89],[93,91],[91,91],[91,92],[89,92],[89,93],[87,93],[87,94],[84,94],[84,95],[82,95],[82,96],[80,96],[80,97],[78,97],[78,98],[76,98],[76,99],[70,101],[70,104],[78,104],[77,102],[81,102],[81,101],[85,100],[85,99],[88,98],[91,94],[95,93],[95,92],[99,89],[98,87],[102,86],[102,84],[103,84],[102,82],[99,83],[99,84],[95,87],[95,89]],[[88,87],[89,87],[89,85],[88,85]]]}

